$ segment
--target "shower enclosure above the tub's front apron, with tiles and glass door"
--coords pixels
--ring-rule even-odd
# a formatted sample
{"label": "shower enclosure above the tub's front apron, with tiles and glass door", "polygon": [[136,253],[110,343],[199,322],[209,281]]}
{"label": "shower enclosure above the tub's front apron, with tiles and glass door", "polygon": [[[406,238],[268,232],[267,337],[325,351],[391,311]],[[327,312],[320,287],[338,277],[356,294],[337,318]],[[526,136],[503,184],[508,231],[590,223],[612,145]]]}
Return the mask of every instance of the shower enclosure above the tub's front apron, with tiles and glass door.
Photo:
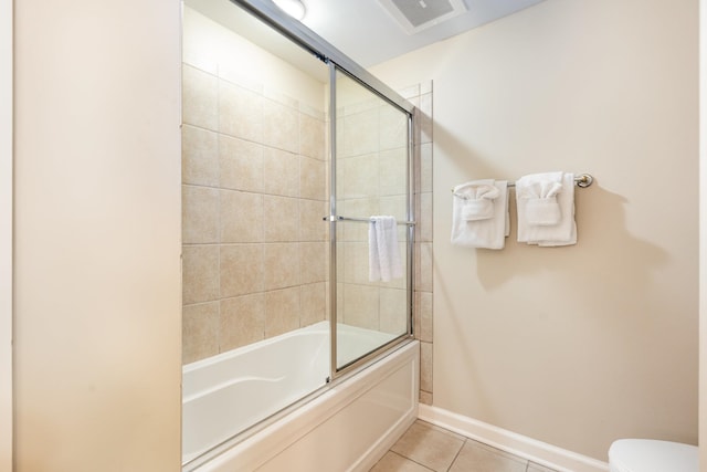
{"label": "shower enclosure above the tub's front apron, with tiles and glass door", "polygon": [[[285,387],[245,423],[222,421],[184,447],[189,464],[411,339],[414,127],[410,103],[270,1],[186,0],[183,11],[184,405],[203,400],[188,375],[226,370],[212,359],[252,356],[303,329],[325,334],[312,358],[274,355],[305,356],[297,377],[313,380],[302,391]],[[373,216],[397,221],[403,275],[388,282],[369,274]],[[217,382],[224,398],[243,377],[266,389],[282,377],[228,376]],[[204,416],[194,408],[184,428]]]}

